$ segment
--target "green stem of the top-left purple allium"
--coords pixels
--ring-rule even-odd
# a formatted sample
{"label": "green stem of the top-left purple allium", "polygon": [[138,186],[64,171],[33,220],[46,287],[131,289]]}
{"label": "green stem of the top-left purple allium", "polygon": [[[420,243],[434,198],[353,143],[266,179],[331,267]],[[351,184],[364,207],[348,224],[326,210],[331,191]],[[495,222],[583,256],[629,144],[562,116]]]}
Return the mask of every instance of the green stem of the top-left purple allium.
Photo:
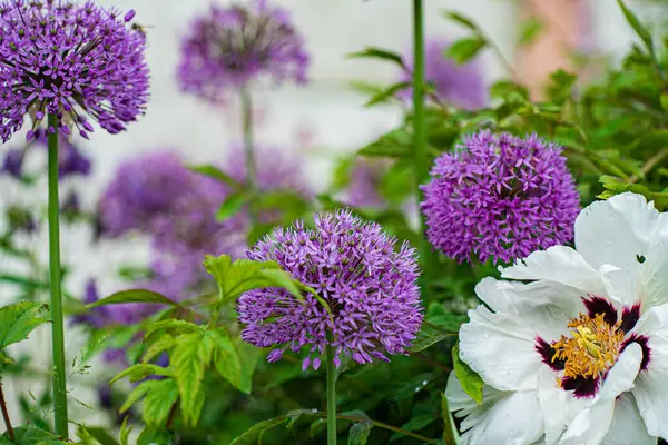
{"label": "green stem of the top-left purple allium", "polygon": [[58,210],[58,118],[49,115],[49,287],[51,289],[51,339],[53,344],[53,413],[56,433],[68,438],[67,386],[65,372],[65,327],[60,293],[60,227]]}

